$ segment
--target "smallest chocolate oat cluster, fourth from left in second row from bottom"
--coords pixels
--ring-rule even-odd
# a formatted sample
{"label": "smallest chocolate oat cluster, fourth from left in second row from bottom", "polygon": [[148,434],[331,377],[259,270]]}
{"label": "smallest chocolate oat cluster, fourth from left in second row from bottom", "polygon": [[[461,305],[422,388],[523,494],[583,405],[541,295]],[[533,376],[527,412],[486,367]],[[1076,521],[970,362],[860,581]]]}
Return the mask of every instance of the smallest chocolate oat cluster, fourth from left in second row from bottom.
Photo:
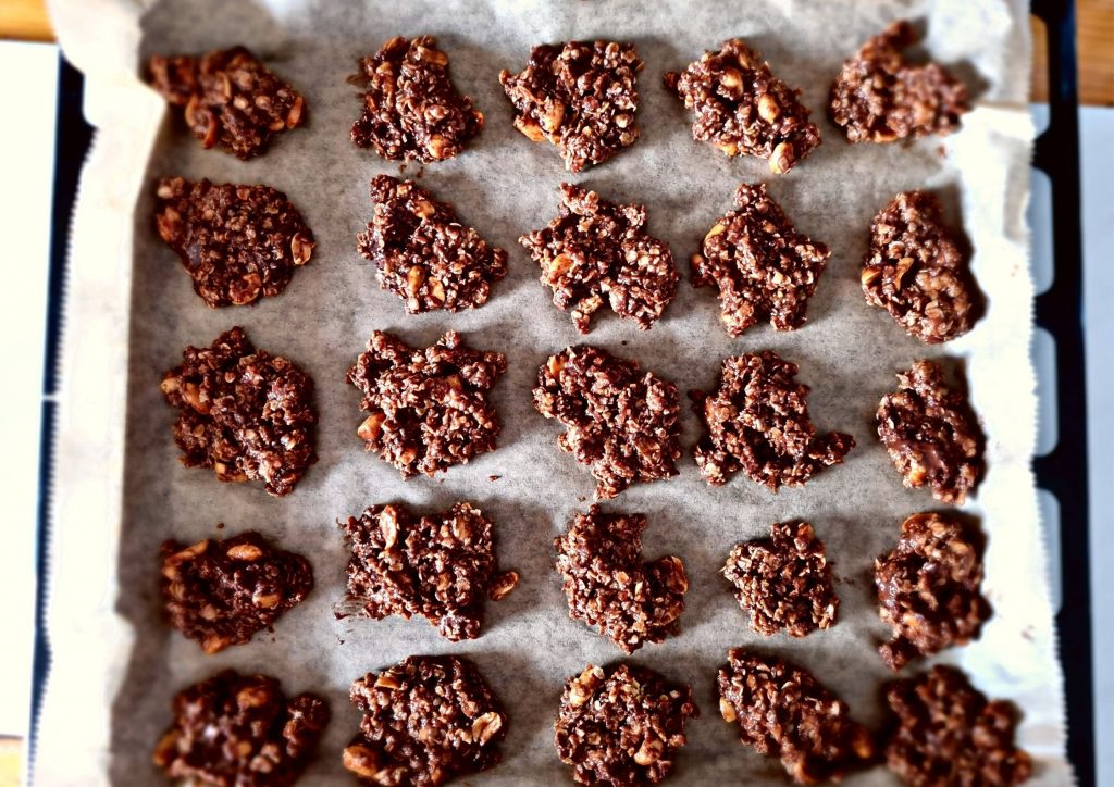
{"label": "smallest chocolate oat cluster, fourth from left in second row from bottom", "polygon": [[836,624],[839,597],[824,544],[808,522],[780,522],[769,539],[735,544],[723,567],[751,628],[769,637],[804,637]]}

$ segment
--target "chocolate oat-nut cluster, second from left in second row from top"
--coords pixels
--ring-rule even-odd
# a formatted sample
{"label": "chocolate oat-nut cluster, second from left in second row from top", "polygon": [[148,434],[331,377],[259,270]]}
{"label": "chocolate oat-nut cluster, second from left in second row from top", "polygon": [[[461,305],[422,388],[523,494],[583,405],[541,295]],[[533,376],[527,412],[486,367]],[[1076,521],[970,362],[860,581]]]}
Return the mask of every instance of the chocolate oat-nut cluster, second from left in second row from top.
{"label": "chocolate oat-nut cluster, second from left in second row from top", "polygon": [[507,275],[507,253],[412,180],[377,176],[371,201],[374,214],[356,248],[375,264],[380,289],[398,295],[408,313],[477,308]]}

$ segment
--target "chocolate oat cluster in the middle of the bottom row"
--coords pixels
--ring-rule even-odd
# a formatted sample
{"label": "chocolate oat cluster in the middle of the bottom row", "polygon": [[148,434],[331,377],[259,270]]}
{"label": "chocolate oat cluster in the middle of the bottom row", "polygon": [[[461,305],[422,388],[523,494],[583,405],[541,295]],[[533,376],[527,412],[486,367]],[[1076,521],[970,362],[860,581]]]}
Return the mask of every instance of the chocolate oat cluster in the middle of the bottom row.
{"label": "chocolate oat cluster in the middle of the bottom row", "polygon": [[557,752],[579,784],[657,784],[673,770],[687,742],[685,725],[697,716],[687,686],[645,667],[589,665],[565,683],[554,725]]}

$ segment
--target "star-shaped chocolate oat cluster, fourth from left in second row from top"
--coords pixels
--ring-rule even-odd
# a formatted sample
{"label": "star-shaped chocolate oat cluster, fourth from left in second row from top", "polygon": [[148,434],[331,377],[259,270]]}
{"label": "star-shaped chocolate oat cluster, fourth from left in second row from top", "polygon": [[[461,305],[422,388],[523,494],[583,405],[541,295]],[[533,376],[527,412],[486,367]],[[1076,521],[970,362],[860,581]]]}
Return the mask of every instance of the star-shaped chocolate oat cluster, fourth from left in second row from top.
{"label": "star-shaped chocolate oat cluster, fourth from left in second row from top", "polygon": [[693,255],[693,286],[716,286],[732,336],[764,317],[778,331],[801,327],[831,252],[797,232],[764,184],[740,186],[735,205]]}

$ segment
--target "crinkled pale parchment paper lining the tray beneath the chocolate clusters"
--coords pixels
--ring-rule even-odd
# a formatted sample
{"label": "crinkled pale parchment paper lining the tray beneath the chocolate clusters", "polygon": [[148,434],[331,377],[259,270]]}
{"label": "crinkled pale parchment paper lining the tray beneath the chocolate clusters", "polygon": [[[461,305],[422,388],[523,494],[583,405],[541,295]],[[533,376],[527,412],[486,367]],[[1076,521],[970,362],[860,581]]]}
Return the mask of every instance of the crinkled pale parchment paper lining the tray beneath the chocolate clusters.
{"label": "crinkled pale parchment paper lining the tray beneath the chocolate clusters", "polygon": [[[1036,784],[1072,780],[1064,759],[1064,714],[1045,555],[1029,459],[1034,447],[1034,375],[1028,360],[1033,289],[1027,267],[1028,159],[1025,111],[1029,39],[1022,0],[746,3],[590,0],[587,2],[331,2],[218,0],[147,3],[57,0],[67,55],[88,75],[87,111],[99,134],[82,179],[71,255],[66,393],[58,434],[56,528],[51,540],[49,633],[53,669],[41,722],[41,784],[158,783],[150,751],[169,724],[182,687],[222,668],[262,670],[290,692],[326,696],[333,721],[304,783],[348,784],[340,749],[358,714],[351,681],[411,653],[471,657],[510,714],[504,761],[469,781],[560,784],[567,769],[553,747],[551,724],[565,679],[588,663],[622,653],[570,621],[553,569],[553,538],[590,504],[594,481],[557,450],[558,426],[530,405],[538,365],[583,341],[516,238],[555,215],[557,185],[574,180],[605,198],[647,205],[651,232],[667,240],[684,281],[665,318],[643,333],[610,314],[587,341],[636,358],[682,392],[710,390],[722,358],[763,348],[798,362],[812,386],[820,430],[854,435],[846,464],[803,489],[773,494],[740,474],[710,489],[686,453],[681,474],[639,484],[607,508],[645,512],[645,554],[677,554],[691,579],[682,633],[639,650],[633,660],[691,683],[702,717],[690,727],[673,784],[782,784],[780,765],[739,745],[719,717],[713,680],[726,650],[750,646],[811,669],[877,727],[880,695],[891,675],[876,653],[888,636],[878,621],[871,564],[896,542],[902,519],[939,508],[924,491],[902,489],[873,433],[873,412],[893,375],[919,357],[947,358],[966,371],[987,433],[988,471],[965,506],[987,534],[985,590],[995,608],[979,641],[946,652],[991,697],[1024,715],[1019,742],[1036,759]],[[974,89],[976,109],[962,131],[941,145],[850,146],[825,119],[824,101],[841,61],[889,21],[927,27],[925,49]],[[345,77],[354,60],[394,35],[432,33],[451,59],[452,77],[485,112],[487,126],[451,161],[409,176],[453,203],[467,224],[510,253],[510,275],[483,308],[409,316],[379,291],[374,272],[354,250],[370,216],[368,181],[399,166],[349,141],[359,112]],[[823,145],[786,176],[765,161],[727,160],[692,141],[690,117],[662,86],[706,48],[741,36],[774,72],[800,86]],[[500,69],[519,70],[530,46],[571,38],[632,40],[646,62],[639,86],[641,140],[610,163],[566,174],[550,146],[511,127]],[[154,52],[205,51],[245,43],[306,97],[307,128],[283,134],[268,154],[237,161],[202,150],[160,100],[138,80]],[[257,306],[213,311],[192,292],[174,254],[157,238],[157,178],[183,175],[216,181],[265,183],[302,210],[319,245],[287,291]],[[741,181],[765,180],[798,228],[833,249],[793,333],[756,326],[740,340],[717,321],[714,294],[688,284],[686,259],[715,218],[731,207]],[[871,216],[899,190],[941,193],[973,250],[987,312],[968,335],[926,348],[878,309],[866,306],[858,268]],[[209,472],[179,465],[170,436],[174,412],[163,402],[160,374],[188,344],[207,345],[243,325],[258,347],[293,358],[315,380],[320,462],[285,499],[257,485],[218,484]],[[364,453],[355,427],[359,396],[345,370],[375,328],[414,346],[446,329],[475,347],[505,352],[509,370],[495,390],[504,431],[498,451],[438,480],[400,480]],[[698,434],[684,412],[684,444]],[[498,475],[498,480],[489,476]],[[120,491],[123,489],[123,492]],[[522,576],[505,601],[489,604],[481,638],[451,643],[424,620],[336,621],[346,560],[334,521],[372,503],[403,501],[441,510],[456,500],[479,504],[496,521],[499,557]],[[730,587],[717,574],[731,545],[764,535],[771,523],[811,521],[839,578],[840,622],[801,640],[752,633]],[[215,529],[224,522],[223,531]],[[280,619],[273,636],[205,657],[169,631],[157,614],[157,550],[169,537],[190,542],[256,528],[307,554],[316,589]],[[891,784],[885,769],[852,785]]]}

